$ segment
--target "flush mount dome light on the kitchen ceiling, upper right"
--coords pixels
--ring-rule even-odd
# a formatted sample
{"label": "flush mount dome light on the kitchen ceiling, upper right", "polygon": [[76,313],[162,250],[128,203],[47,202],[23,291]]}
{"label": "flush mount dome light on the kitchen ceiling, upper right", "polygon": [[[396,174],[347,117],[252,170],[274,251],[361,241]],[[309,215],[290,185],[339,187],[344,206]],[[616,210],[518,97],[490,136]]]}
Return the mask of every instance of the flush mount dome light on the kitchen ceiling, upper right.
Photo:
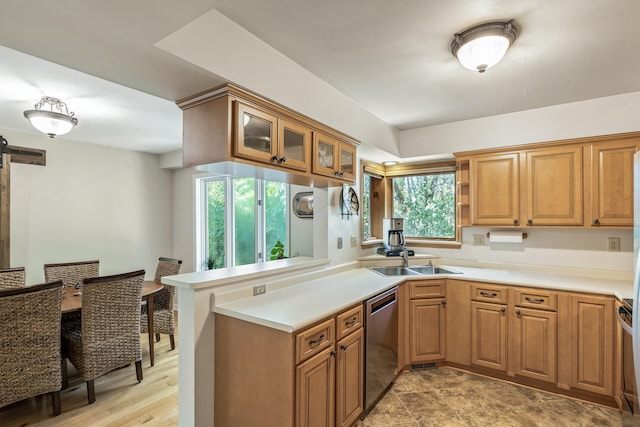
{"label": "flush mount dome light on the kitchen ceiling, upper right", "polygon": [[513,20],[487,22],[454,35],[451,53],[464,68],[484,73],[502,59],[517,37]]}

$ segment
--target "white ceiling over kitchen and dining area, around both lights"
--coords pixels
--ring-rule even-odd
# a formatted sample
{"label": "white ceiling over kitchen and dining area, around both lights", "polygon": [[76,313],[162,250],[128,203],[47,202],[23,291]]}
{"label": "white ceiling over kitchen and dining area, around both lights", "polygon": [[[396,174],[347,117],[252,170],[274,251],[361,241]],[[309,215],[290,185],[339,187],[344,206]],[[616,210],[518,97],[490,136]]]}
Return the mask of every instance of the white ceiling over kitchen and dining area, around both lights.
{"label": "white ceiling over kitchen and dining area, around both lights", "polygon": [[[154,44],[211,8],[400,130],[640,90],[637,0],[3,0],[0,129],[35,132],[22,112],[48,95],[68,139],[179,149],[174,101],[222,80]],[[505,19],[503,61],[462,68],[453,34]]]}

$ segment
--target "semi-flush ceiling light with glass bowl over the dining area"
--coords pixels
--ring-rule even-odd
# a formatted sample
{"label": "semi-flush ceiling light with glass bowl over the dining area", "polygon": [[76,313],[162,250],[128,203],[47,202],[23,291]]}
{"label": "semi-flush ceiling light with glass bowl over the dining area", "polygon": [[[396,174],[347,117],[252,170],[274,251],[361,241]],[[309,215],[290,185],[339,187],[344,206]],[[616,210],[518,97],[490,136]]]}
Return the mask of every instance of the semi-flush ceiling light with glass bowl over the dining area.
{"label": "semi-flush ceiling light with glass bowl over the dining area", "polygon": [[78,124],[78,119],[73,117],[73,112],[69,112],[67,104],[49,96],[43,96],[35,105],[35,110],[25,111],[24,116],[34,128],[46,133],[49,138],[64,135]]}

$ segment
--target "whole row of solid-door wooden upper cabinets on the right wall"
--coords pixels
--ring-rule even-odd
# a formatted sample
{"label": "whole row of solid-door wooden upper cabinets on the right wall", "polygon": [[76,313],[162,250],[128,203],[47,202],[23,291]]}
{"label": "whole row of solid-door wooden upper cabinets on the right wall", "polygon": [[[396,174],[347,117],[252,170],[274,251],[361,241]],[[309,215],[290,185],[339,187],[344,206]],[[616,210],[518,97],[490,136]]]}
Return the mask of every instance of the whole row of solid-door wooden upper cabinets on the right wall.
{"label": "whole row of solid-door wooden upper cabinets on the right wall", "polygon": [[638,149],[640,133],[629,133],[455,153],[468,175],[459,225],[632,227]]}

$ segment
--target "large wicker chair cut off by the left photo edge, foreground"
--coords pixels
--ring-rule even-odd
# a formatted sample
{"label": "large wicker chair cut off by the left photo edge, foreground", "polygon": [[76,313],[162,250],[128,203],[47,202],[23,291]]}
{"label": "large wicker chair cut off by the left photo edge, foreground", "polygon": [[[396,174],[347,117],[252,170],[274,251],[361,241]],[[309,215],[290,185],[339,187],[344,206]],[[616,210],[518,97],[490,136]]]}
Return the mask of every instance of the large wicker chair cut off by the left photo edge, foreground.
{"label": "large wicker chair cut off by the left photo edge, foreground", "polygon": [[62,282],[0,290],[0,407],[51,393],[60,414]]}

